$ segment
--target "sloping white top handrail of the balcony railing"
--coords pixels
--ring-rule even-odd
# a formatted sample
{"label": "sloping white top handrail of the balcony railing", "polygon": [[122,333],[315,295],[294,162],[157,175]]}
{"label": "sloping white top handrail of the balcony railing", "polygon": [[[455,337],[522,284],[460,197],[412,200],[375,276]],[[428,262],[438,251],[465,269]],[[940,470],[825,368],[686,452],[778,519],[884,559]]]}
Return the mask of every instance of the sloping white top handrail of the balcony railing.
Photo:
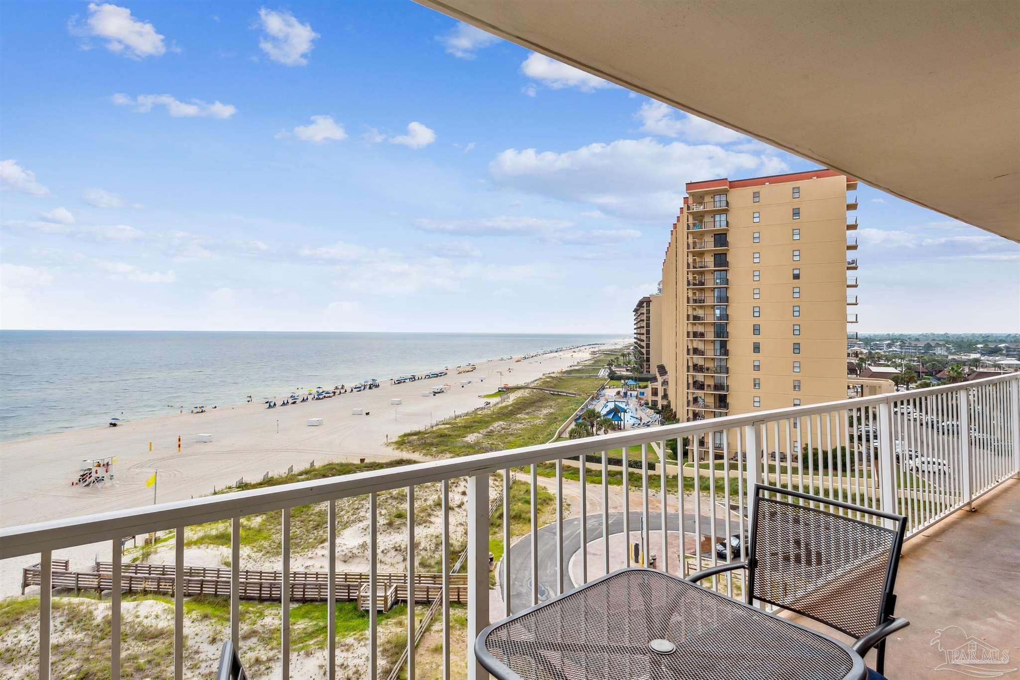
{"label": "sloping white top handrail of the balcony railing", "polygon": [[908,393],[876,395],[641,430],[625,430],[585,439],[522,447],[501,452],[416,463],[387,470],[357,472],[340,477],[327,477],[201,499],[163,503],[156,506],[6,527],[0,529],[0,560],[40,553],[41,551],[86,545],[121,536],[171,529],[181,525],[203,524],[231,519],[239,515],[254,515],[338,499],[367,495],[370,492],[417,486],[455,477],[476,476],[507,468],[546,463],[570,456],[597,454],[619,447],[633,447],[652,441],[697,436],[706,432],[748,426],[755,422],[768,422],[776,418],[803,418],[838,409],[861,409],[879,404],[889,404],[907,396],[913,399],[926,398],[942,393],[959,391],[963,387],[974,388],[1002,381],[1016,383],[1020,381],[1020,373],[913,389]]}

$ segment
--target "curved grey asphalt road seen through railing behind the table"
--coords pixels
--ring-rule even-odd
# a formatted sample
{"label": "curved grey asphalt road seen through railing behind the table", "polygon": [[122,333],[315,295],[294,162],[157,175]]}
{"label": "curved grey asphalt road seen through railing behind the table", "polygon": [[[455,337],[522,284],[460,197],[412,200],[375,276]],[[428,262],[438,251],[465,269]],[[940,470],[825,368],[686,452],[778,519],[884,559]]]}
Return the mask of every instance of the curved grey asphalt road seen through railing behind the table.
{"label": "curved grey asphalt road seen through railing behind the table", "polygon": [[[719,515],[722,515],[720,518]],[[641,530],[642,513],[630,513],[630,530]],[[679,517],[677,513],[666,516],[668,531],[677,531]],[[702,532],[710,533],[712,518],[702,515]],[[736,532],[736,522],[731,521],[733,532]],[[662,528],[662,517],[659,513],[649,513],[649,530],[658,531]],[[683,530],[694,533],[695,516],[684,514]],[[716,512],[716,536],[725,536],[725,512],[720,508]],[[623,533],[623,513],[609,513],[609,535]],[[589,542],[602,538],[602,514],[588,516]],[[570,587],[570,558],[580,550],[580,518],[571,517],[563,520],[563,581],[564,587]],[[520,538],[510,547],[510,596],[513,611],[520,612],[531,606],[531,537]],[[591,562],[589,563],[591,566]],[[600,567],[601,568],[601,567]],[[500,575],[502,579],[502,574]],[[505,592],[505,584],[501,582]],[[556,524],[539,527],[539,599],[544,601],[556,595]]]}

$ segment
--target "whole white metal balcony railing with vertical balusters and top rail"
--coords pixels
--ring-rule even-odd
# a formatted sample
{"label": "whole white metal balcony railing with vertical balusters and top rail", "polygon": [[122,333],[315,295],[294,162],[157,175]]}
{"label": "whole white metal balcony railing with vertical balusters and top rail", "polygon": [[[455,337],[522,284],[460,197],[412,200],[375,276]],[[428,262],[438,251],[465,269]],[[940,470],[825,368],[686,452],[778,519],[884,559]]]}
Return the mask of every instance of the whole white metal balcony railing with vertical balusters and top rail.
{"label": "whole white metal balcony railing with vertical balusters and top rail", "polygon": [[[622,467],[610,469],[608,452],[620,449]],[[677,457],[671,451],[681,452]],[[625,462],[640,453],[640,469]],[[594,455],[601,465],[588,465]],[[653,473],[650,466],[657,463]],[[576,458],[577,460],[571,460]],[[547,464],[553,466],[547,466]],[[568,467],[569,466],[569,467]],[[570,478],[570,469],[578,478]],[[529,548],[529,559],[515,562],[510,534],[510,480],[514,470],[526,473],[530,492],[530,526],[519,543]],[[582,484],[592,471],[596,489]],[[504,501],[505,558],[500,565],[505,596],[504,611],[490,612],[489,605],[489,534],[490,475],[502,473],[502,489],[493,489]],[[543,547],[539,539],[539,474],[554,477],[556,517],[554,545]],[[326,540],[329,554],[336,555],[338,500],[367,495],[369,521],[369,591],[376,591],[377,575],[377,494],[393,489],[407,491],[406,551],[408,592],[414,584],[414,491],[425,484],[443,482],[442,547],[443,572],[450,571],[449,481],[467,479],[467,655],[468,677],[487,677],[476,664],[472,643],[478,632],[498,615],[509,615],[538,603],[541,594],[553,596],[574,587],[566,567],[571,551],[579,553],[579,582],[598,577],[613,568],[613,562],[632,563],[629,544],[631,514],[641,516],[641,555],[653,552],[661,559],[656,568],[687,575],[725,558],[716,552],[718,539],[746,536],[750,526],[749,500],[755,483],[768,483],[808,493],[903,514],[907,517],[908,537],[918,534],[1005,479],[1020,473],[1020,373],[996,376],[960,384],[941,385],[907,393],[880,395],[774,411],[747,413],[700,420],[650,429],[626,430],[601,437],[575,439],[467,456],[429,463],[419,463],[376,472],[286,484],[270,488],[239,491],[154,507],[121,510],[67,520],[12,527],[0,530],[0,559],[40,555],[40,635],[39,677],[50,677],[50,616],[54,551],[110,541],[113,548],[111,596],[112,678],[120,677],[120,590],[121,536],[158,530],[185,528],[215,520],[231,520],[231,639],[238,643],[240,628],[240,544],[241,517],[282,513],[282,677],[290,676],[289,588],[290,513],[297,506],[328,504]],[[682,480],[682,481],[681,481]],[[626,481],[626,483],[622,483]],[[564,486],[575,489],[579,500],[579,532],[565,533]],[[619,486],[619,488],[617,488]],[[633,499],[630,487],[639,491]],[[589,514],[589,495],[593,494],[599,514]],[[658,513],[653,511],[658,503]],[[620,503],[624,551],[622,561],[610,560],[610,531],[602,530],[601,564],[592,564],[588,546],[590,525],[605,529],[612,526],[610,503]],[[836,512],[849,512],[835,509]],[[579,521],[579,520],[578,520]],[[682,532],[682,547],[670,555],[671,523]],[[651,535],[657,525],[658,544]],[[663,530],[665,529],[665,530]],[[684,542],[693,534],[694,550]],[[573,536],[579,535],[579,541]],[[703,550],[707,539],[708,547]],[[572,541],[572,542],[571,542]],[[175,575],[184,579],[184,541],[175,541]],[[744,559],[745,541],[738,542]],[[545,551],[545,552],[543,552]],[[734,556],[735,558],[735,556]],[[540,567],[555,560],[551,581],[543,582]],[[594,567],[594,569],[593,569]],[[513,574],[526,569],[528,578],[523,592],[514,596]],[[335,601],[336,561],[328,561],[329,601]],[[743,582],[729,573],[715,577],[715,587],[737,594]],[[579,583],[578,583],[579,584]],[[450,674],[450,635],[448,593],[443,599],[443,676]],[[336,677],[336,626],[329,606],[327,632],[328,677]],[[173,677],[183,676],[184,590],[174,593]],[[408,608],[408,677],[413,677],[415,663],[414,608]],[[369,677],[377,677],[378,640],[376,617],[369,607],[367,645]]]}

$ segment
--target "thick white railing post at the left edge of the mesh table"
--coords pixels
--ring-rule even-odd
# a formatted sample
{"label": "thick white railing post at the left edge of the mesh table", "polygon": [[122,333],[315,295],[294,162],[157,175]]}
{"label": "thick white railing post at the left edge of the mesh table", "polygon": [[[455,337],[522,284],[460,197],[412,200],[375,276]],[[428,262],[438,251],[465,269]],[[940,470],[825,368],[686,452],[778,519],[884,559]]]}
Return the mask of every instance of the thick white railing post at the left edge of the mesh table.
{"label": "thick white railing post at the left edge of the mesh table", "polygon": [[[509,546],[506,552],[509,556]],[[510,584],[506,584],[507,594]],[[467,478],[467,677],[488,680],[474,640],[489,625],[489,474]]]}

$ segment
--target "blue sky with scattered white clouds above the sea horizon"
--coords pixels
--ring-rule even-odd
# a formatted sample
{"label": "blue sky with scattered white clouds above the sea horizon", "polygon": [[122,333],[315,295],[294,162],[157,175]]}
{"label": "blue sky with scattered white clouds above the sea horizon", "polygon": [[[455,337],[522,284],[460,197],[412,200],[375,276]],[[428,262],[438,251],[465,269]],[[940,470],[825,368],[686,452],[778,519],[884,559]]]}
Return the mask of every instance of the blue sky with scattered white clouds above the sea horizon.
{"label": "blue sky with scattered white clouds above the sea horizon", "polygon": [[[685,182],[817,167],[411,2],[5,2],[0,41],[5,329],[627,333]],[[1020,329],[1020,246],[857,196],[854,329]]]}

